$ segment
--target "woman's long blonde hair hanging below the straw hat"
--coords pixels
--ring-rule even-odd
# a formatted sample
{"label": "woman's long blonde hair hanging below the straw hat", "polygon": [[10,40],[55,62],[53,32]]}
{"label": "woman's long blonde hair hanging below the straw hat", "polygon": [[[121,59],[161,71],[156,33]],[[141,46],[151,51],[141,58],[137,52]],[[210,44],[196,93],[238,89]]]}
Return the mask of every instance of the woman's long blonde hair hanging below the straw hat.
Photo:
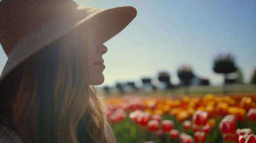
{"label": "woman's long blonde hair hanging below the straw hat", "polygon": [[[105,114],[87,67],[86,34],[73,31],[20,64],[3,84],[26,143],[106,143]],[[15,77],[15,78],[14,78]],[[14,95],[13,95],[14,94]],[[11,101],[12,98],[11,98]]]}

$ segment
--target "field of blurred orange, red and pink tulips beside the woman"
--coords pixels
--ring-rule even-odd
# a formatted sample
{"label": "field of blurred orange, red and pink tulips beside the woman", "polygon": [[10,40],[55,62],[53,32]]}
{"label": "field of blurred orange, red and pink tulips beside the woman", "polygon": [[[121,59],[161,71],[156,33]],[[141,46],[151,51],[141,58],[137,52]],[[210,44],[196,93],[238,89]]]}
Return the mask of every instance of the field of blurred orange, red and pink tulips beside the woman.
{"label": "field of blurred orange, red and pink tulips beside the woman", "polygon": [[118,143],[256,143],[256,95],[105,101]]}

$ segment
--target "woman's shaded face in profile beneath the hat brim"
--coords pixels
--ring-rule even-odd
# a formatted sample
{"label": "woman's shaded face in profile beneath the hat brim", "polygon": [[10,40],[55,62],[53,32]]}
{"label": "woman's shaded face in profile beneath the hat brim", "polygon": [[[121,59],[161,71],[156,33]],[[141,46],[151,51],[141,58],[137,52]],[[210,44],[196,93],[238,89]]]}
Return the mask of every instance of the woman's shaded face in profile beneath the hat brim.
{"label": "woman's shaded face in profile beneath the hat brim", "polygon": [[102,55],[107,53],[108,48],[96,38],[94,30],[90,30],[88,34],[88,69],[93,82],[92,84],[100,85],[104,82],[102,72],[105,69]]}

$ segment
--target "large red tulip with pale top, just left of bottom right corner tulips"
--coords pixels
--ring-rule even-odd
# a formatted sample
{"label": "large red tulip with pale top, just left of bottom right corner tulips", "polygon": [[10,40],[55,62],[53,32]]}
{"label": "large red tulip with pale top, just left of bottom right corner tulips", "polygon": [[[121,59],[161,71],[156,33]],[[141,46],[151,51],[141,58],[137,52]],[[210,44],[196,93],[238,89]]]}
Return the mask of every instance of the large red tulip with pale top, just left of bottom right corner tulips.
{"label": "large red tulip with pale top, just left of bottom right corner tulips", "polygon": [[224,117],[219,123],[219,129],[223,134],[235,134],[236,123],[232,116]]}

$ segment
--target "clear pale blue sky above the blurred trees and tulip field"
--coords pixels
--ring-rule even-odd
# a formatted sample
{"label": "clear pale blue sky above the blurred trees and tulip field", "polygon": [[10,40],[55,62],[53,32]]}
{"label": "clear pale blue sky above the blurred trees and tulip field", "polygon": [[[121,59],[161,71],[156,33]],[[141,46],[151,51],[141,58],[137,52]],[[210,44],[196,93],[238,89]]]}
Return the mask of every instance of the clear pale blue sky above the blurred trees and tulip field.
{"label": "clear pale blue sky above the blurred trees and tulip field", "polygon": [[[81,6],[131,5],[138,15],[105,43],[105,83],[138,80],[168,70],[178,83],[177,67],[191,64],[195,73],[221,84],[212,71],[218,53],[231,52],[249,81],[256,67],[256,0],[78,0]],[[0,50],[0,71],[7,60]]]}

